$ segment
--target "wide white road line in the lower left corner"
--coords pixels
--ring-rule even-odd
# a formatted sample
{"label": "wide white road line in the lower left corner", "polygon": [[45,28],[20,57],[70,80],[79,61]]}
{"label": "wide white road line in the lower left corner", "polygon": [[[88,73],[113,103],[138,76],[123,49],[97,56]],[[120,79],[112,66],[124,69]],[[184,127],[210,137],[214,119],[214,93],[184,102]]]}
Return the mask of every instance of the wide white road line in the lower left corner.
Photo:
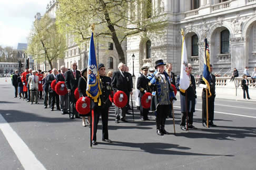
{"label": "wide white road line in the lower left corner", "polygon": [[18,160],[26,170],[45,170],[44,165],[37,160],[33,152],[28,148],[25,142],[17,135],[9,123],[3,118],[0,113],[0,129],[2,130],[6,140],[12,147]]}

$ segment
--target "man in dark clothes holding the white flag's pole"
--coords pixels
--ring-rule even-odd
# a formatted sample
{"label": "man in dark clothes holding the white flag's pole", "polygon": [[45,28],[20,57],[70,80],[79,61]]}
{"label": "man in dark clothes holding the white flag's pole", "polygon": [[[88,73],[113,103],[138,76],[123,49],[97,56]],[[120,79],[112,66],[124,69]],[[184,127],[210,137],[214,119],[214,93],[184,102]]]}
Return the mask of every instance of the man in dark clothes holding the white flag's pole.
{"label": "man in dark clothes holding the white flag's pole", "polygon": [[[190,86],[188,89],[186,89],[186,94],[180,91],[180,76],[177,77],[176,82],[176,89],[180,91],[180,98],[181,98],[181,130],[186,131],[186,111],[188,111],[188,124],[189,129],[197,129],[195,126],[193,126],[193,114],[195,112],[195,99],[196,99],[196,91],[195,91],[195,78],[191,74],[192,72],[192,66],[190,63],[188,63],[189,68],[189,78],[190,78]],[[186,101],[186,95],[188,98],[188,101]],[[188,110],[186,110],[188,109]]]}

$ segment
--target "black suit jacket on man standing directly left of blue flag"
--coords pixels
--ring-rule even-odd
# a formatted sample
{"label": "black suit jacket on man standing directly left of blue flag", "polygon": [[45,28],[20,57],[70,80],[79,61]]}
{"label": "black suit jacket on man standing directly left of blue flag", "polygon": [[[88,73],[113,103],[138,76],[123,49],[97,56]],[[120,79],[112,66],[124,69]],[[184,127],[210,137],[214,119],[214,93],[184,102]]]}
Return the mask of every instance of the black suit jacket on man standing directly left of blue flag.
{"label": "black suit jacket on man standing directly left of blue flag", "polygon": [[65,73],[65,84],[67,87],[67,90],[75,91],[75,89],[78,86],[78,80],[81,77],[80,71],[76,70],[76,79],[73,76],[72,70],[68,70]]}

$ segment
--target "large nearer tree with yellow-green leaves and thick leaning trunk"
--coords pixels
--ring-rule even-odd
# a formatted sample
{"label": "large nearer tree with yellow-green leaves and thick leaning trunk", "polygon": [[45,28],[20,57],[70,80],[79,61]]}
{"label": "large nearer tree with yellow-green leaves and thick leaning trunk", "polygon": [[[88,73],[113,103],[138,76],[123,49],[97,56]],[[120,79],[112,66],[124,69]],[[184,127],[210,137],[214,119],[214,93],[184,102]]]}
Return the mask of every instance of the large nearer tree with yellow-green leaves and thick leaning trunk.
{"label": "large nearer tree with yellow-green leaves and thick leaning trunk", "polygon": [[[143,6],[137,15],[133,13],[136,6]],[[120,61],[125,63],[121,44],[127,36],[147,37],[166,26],[165,19],[152,14],[151,0],[60,0],[56,23],[62,33],[75,35],[77,43],[90,38],[90,26],[95,24],[94,36],[112,38]]]}

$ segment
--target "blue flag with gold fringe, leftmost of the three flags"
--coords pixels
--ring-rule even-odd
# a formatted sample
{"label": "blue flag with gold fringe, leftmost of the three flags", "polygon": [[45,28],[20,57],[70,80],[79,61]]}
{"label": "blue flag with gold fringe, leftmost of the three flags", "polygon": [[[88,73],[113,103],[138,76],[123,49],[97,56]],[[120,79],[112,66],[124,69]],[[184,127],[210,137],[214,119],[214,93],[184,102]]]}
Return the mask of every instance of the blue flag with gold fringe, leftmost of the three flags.
{"label": "blue flag with gold fringe, leftmost of the three flags", "polygon": [[88,66],[87,66],[87,89],[86,94],[88,97],[92,98],[94,102],[98,102],[101,105],[101,100],[99,96],[101,95],[101,88],[100,88],[100,76],[97,66],[96,54],[95,54],[95,46],[94,46],[94,39],[93,33],[90,41],[90,49],[89,49],[89,56],[88,56]]}

